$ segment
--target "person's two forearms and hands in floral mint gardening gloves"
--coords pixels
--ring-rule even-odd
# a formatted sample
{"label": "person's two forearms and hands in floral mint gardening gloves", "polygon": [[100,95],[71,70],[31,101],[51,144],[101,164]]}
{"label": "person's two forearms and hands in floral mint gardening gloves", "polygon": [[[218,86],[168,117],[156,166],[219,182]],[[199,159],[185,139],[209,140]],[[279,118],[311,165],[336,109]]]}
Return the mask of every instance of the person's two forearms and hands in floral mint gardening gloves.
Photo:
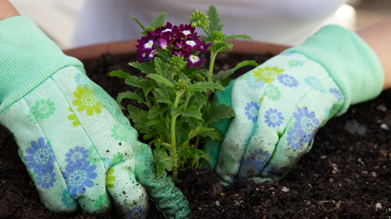
{"label": "person's two forearms and hands in floral mint gardening gloves", "polygon": [[[18,15],[0,0],[0,122],[14,133],[45,205],[71,212],[79,203],[98,213],[111,207],[110,196],[120,215],[145,216],[146,190],[167,217],[185,217],[183,194],[156,176],[150,149],[116,102]],[[391,87],[390,24],[388,18],[356,32],[324,26],[216,93],[236,112],[214,124],[224,141],[205,145],[222,183],[280,180],[328,119]]]}

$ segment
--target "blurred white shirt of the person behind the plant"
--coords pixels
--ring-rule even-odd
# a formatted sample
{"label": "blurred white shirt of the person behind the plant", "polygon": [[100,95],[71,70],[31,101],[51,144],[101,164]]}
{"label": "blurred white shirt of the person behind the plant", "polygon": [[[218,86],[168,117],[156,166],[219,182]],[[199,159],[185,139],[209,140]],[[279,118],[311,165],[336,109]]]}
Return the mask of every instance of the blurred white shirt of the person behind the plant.
{"label": "blurred white shirt of the person behind the plant", "polygon": [[[255,41],[297,45],[324,25],[347,0],[87,0],[72,46],[140,38],[143,25],[165,11],[173,25],[188,24],[193,9],[215,5],[225,34]],[[199,34],[204,34],[199,31]]]}

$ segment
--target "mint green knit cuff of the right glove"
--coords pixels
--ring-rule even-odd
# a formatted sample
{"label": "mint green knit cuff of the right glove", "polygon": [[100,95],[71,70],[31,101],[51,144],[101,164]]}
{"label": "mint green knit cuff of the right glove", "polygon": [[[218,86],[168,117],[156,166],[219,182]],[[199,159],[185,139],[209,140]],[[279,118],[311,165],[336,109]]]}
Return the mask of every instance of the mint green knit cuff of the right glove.
{"label": "mint green knit cuff of the right glove", "polygon": [[282,53],[287,52],[304,54],[326,68],[345,97],[337,115],[343,114],[350,104],[375,98],[382,90],[384,74],[380,60],[353,31],[327,25],[301,45]]}

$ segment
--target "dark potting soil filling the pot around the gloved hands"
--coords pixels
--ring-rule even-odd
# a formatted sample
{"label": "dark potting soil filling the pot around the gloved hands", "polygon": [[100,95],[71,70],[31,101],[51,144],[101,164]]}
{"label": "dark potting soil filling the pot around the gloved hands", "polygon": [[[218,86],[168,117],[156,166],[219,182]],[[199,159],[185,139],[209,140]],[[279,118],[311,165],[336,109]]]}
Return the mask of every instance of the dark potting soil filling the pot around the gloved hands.
{"label": "dark potting soil filling the pot around the gloved hands", "polygon": [[[222,55],[228,69],[246,59],[271,56]],[[112,70],[133,72],[132,57],[102,55],[86,64],[92,80],[110,95],[128,89]],[[123,61],[125,60],[125,62]],[[248,68],[241,69],[246,72]],[[240,73],[238,73],[240,74]],[[127,100],[128,101],[128,100]],[[124,105],[132,103],[125,102]],[[17,122],[17,121],[16,121]],[[235,180],[222,186],[209,169],[180,172],[177,186],[187,197],[193,218],[390,218],[391,93],[356,104],[319,129],[310,152],[279,182]],[[48,211],[18,156],[13,135],[0,126],[0,218],[116,218],[60,215]],[[151,204],[148,218],[163,218]]]}

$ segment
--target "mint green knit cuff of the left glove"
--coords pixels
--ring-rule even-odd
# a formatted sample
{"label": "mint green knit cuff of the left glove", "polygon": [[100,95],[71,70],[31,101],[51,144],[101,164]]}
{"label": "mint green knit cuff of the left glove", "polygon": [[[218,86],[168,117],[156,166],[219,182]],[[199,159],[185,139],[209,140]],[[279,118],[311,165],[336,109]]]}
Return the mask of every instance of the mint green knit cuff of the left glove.
{"label": "mint green knit cuff of the left glove", "polygon": [[0,21],[0,33],[0,112],[59,69],[83,66],[65,55],[28,17]]}

